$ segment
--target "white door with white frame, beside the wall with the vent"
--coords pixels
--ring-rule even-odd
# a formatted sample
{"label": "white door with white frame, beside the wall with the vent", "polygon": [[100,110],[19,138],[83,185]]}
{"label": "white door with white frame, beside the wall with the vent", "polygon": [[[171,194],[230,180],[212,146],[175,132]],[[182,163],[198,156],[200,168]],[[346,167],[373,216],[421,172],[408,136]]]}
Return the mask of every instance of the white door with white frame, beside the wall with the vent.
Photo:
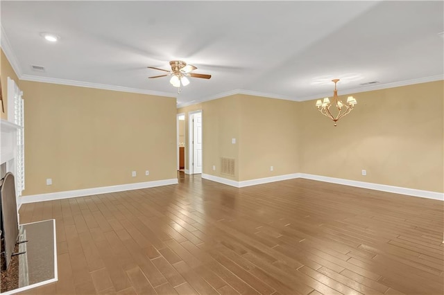
{"label": "white door with white frame, beside the wall with the vent", "polygon": [[189,112],[189,174],[202,173],[202,111]]}

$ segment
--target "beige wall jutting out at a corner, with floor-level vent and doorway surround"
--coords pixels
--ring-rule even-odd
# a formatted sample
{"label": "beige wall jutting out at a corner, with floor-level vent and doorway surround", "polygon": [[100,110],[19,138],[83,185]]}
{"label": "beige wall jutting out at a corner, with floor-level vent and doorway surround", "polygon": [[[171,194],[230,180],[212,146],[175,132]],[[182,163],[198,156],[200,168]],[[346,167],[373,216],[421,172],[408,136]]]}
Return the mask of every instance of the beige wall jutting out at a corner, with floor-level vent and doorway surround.
{"label": "beige wall jutting out at a corner, with floor-level vent and doorway surround", "polygon": [[[203,111],[203,173],[244,181],[298,172],[296,104],[237,94],[180,108],[178,114],[186,113],[188,125],[190,111]],[[234,177],[220,173],[221,157],[234,159]]]}

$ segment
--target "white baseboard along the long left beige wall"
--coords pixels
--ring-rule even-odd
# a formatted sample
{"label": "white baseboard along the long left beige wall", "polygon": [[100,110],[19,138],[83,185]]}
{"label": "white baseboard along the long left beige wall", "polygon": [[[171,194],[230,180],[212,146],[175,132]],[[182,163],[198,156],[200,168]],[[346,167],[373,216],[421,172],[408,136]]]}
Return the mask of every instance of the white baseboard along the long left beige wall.
{"label": "white baseboard along the long left beige wall", "polygon": [[178,184],[178,179],[162,179],[156,181],[138,182],[136,184],[121,184],[119,186],[103,186],[101,188],[85,188],[83,190],[67,190],[64,192],[48,193],[40,195],[27,195],[20,197],[20,205],[26,203],[35,203],[51,201],[53,199],[67,199],[71,197],[84,197],[89,195],[101,195],[106,193],[117,193],[124,190],[139,190],[141,188],[154,188],[155,186],[168,186]]}

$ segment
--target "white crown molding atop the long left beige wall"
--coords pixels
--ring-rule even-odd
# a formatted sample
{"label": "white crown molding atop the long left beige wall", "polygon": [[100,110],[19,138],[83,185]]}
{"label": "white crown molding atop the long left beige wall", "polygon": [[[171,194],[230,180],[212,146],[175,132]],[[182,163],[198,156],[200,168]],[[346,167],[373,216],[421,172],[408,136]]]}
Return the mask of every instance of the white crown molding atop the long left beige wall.
{"label": "white crown molding atop the long left beige wall", "polygon": [[42,83],[52,83],[52,84],[62,84],[62,85],[69,85],[69,86],[76,86],[76,87],[87,87],[87,88],[94,88],[94,89],[104,89],[104,90],[112,90],[112,91],[121,91],[121,92],[130,92],[130,93],[139,93],[139,94],[148,94],[151,96],[167,96],[167,97],[171,97],[171,98],[176,98],[176,96],[177,96],[176,93],[170,93],[170,92],[151,91],[151,90],[145,90],[145,89],[137,89],[137,88],[123,87],[123,86],[116,86],[116,85],[109,85],[109,84],[99,84],[99,83],[92,83],[92,82],[82,82],[82,81],[76,81],[76,80],[47,78],[47,77],[40,77],[40,76],[36,76],[36,75],[27,75],[27,74],[22,75],[20,80],[26,80],[26,81],[32,81],[32,82],[42,82]]}

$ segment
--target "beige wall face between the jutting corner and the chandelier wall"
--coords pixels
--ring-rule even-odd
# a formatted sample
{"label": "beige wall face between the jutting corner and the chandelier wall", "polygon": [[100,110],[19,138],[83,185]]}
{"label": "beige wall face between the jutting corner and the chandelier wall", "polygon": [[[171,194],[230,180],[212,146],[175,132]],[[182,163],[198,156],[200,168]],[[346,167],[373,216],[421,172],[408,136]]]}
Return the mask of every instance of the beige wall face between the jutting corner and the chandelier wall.
{"label": "beige wall face between the jutting corner and the chandelier wall", "polygon": [[298,103],[246,95],[240,102],[239,181],[299,172]]}

